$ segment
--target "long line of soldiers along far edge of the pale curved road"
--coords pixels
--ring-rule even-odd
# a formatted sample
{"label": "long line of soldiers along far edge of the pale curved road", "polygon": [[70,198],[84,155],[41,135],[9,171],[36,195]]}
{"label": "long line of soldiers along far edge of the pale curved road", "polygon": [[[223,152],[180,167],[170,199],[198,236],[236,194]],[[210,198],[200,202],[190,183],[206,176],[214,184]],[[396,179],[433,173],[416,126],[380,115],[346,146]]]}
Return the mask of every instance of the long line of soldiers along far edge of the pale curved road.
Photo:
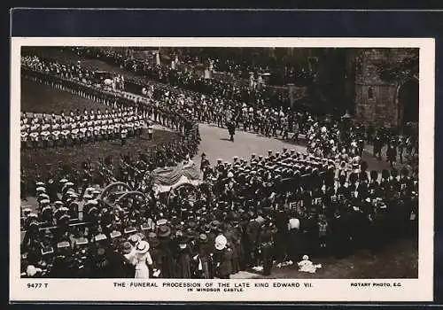
{"label": "long line of soldiers along far edge of the pale curved road", "polygon": [[[361,157],[364,150],[369,151],[373,144],[374,156],[381,159],[382,148],[385,158],[390,161],[403,159],[412,162],[418,154],[418,139],[415,134],[410,136],[395,136],[385,128],[378,128],[369,136],[368,128],[363,125],[353,125],[349,120],[330,120],[317,118],[307,112],[299,113],[283,108],[257,108],[247,105],[235,105],[232,102],[206,96],[192,96],[189,93],[173,91],[166,87],[157,87],[158,97],[167,97],[167,102],[176,103],[185,111],[189,111],[199,121],[216,123],[219,127],[228,126],[229,120],[234,120],[236,127],[245,131],[253,131],[263,136],[276,136],[291,139],[296,143],[304,136],[308,151],[317,157],[335,157],[353,159]],[[163,91],[163,92],[162,92]],[[166,95],[165,95],[166,94]],[[392,158],[391,150],[398,150]],[[378,151],[377,151],[378,150]]]}

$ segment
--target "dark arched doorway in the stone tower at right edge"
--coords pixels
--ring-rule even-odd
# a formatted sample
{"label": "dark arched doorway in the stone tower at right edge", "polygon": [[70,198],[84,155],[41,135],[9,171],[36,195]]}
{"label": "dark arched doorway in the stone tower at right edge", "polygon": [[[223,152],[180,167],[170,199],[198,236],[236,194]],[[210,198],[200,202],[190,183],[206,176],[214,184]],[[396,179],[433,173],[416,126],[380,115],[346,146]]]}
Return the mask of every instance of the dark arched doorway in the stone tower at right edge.
{"label": "dark arched doorway in the stone tower at right edge", "polygon": [[418,123],[418,80],[411,79],[403,83],[399,89],[400,127],[408,123]]}

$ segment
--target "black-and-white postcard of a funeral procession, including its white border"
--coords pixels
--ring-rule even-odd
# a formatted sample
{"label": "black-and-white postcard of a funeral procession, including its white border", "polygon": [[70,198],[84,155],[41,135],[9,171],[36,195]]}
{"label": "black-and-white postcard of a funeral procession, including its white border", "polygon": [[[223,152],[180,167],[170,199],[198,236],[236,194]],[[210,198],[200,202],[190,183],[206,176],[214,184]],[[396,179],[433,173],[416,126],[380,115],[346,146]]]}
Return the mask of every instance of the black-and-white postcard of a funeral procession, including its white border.
{"label": "black-and-white postcard of a funeral procession, including its white border", "polygon": [[431,301],[434,59],[12,37],[11,301]]}

